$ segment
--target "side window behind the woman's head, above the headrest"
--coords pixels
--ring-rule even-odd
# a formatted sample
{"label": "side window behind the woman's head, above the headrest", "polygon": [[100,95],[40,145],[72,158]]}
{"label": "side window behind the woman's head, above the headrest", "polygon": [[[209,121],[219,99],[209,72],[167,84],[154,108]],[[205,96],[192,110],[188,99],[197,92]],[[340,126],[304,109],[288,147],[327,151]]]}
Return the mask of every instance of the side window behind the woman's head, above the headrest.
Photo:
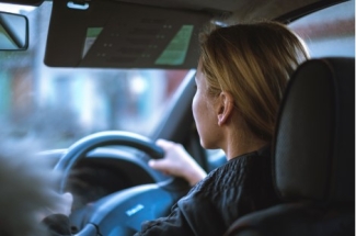
{"label": "side window behind the woman's head, above the headrest", "polygon": [[355,0],[308,14],[289,27],[306,42],[311,57],[355,57]]}

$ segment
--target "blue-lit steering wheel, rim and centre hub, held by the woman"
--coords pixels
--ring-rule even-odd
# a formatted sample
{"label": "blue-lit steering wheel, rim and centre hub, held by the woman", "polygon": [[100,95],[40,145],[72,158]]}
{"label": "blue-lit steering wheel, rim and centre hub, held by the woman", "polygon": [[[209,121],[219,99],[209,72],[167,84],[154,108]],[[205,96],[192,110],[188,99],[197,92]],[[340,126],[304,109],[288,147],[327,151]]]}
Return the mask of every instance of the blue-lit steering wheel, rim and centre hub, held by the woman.
{"label": "blue-lit steering wheel, rim and centre hub, held by the woman", "polygon": [[[55,171],[64,178],[59,191],[64,193],[73,166],[97,147],[124,145],[145,151],[151,158],[163,158],[164,151],[149,138],[119,131],[99,132],[71,145],[61,156]],[[143,221],[151,221],[169,213],[171,206],[190,189],[181,178],[171,178],[159,183],[148,183],[124,189],[106,195],[87,206],[81,218],[82,229],[77,236],[133,235]]]}

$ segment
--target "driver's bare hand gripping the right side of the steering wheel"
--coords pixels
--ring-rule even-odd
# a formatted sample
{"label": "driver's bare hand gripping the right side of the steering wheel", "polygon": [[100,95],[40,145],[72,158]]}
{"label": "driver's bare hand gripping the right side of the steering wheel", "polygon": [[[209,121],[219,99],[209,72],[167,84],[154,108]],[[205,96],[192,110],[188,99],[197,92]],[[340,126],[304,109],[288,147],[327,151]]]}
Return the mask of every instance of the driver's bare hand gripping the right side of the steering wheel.
{"label": "driver's bare hand gripping the right side of the steering wheel", "polygon": [[156,144],[163,148],[165,155],[163,159],[151,159],[148,162],[151,168],[166,175],[184,178],[191,186],[206,177],[204,169],[181,144],[164,139],[158,139]]}

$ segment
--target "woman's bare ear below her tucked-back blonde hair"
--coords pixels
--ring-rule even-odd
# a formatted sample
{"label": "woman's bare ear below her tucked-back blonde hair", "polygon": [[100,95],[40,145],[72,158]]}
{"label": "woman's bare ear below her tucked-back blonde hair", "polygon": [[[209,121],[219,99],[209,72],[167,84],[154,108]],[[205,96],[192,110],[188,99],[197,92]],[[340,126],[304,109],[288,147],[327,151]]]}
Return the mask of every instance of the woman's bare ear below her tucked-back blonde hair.
{"label": "woman's bare ear below her tucked-back blonde hair", "polygon": [[233,110],[233,97],[230,92],[222,91],[218,98],[218,125],[223,125],[232,114]]}

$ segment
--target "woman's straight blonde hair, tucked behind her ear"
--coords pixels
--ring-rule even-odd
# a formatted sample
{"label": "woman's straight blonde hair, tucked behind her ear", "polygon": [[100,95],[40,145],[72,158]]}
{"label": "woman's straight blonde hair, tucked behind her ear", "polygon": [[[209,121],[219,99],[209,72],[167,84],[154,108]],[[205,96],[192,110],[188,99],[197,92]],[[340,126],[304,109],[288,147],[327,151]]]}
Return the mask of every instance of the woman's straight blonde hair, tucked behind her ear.
{"label": "woman's straight blonde hair, tucked behind her ear", "polygon": [[248,130],[271,142],[287,81],[309,57],[303,43],[269,21],[209,27],[199,40],[209,94],[229,91]]}

